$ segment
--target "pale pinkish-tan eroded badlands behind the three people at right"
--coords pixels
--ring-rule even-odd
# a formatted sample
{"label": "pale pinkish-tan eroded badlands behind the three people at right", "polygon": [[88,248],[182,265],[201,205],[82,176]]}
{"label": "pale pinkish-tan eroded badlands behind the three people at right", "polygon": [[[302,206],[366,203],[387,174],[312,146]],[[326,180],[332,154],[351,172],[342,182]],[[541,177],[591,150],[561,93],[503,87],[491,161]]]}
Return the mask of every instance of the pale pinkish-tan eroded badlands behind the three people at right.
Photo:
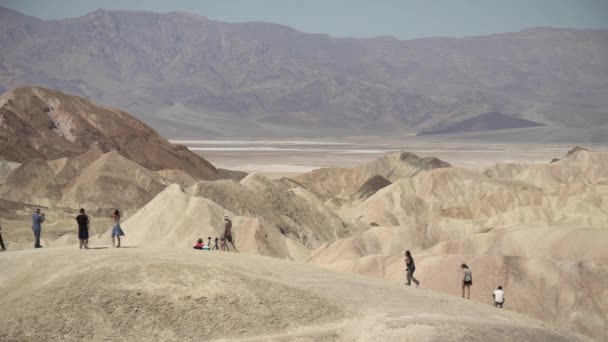
{"label": "pale pinkish-tan eroded badlands behind the three people at right", "polygon": [[[460,264],[474,300],[608,337],[608,153],[576,150],[554,163],[485,170],[440,168],[403,178],[337,208],[371,226],[326,244],[310,262],[403,280],[412,250],[423,287],[460,295]],[[335,204],[335,201],[332,202]]]}

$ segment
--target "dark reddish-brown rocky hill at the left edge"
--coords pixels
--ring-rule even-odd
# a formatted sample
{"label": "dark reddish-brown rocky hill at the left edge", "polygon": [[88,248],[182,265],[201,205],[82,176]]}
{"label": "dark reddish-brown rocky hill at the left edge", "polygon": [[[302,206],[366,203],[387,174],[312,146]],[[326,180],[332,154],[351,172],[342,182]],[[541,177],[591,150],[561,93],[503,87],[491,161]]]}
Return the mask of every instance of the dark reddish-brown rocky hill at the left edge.
{"label": "dark reddish-brown rocky hill at the left edge", "polygon": [[74,158],[91,144],[103,152],[116,150],[152,171],[223,178],[209,162],[126,112],[40,87],[19,87],[0,97],[0,155],[6,160]]}

